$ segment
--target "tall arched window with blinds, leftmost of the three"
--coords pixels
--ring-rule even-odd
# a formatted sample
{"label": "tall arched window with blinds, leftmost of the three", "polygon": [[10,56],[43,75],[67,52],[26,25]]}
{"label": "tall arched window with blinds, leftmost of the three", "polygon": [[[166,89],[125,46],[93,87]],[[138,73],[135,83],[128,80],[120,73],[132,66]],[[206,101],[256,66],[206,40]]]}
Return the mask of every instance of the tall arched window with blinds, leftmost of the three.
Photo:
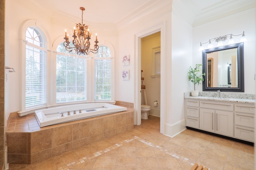
{"label": "tall arched window with blinds, leftmost of the three", "polygon": [[46,105],[46,50],[34,27],[26,30],[25,108]]}

